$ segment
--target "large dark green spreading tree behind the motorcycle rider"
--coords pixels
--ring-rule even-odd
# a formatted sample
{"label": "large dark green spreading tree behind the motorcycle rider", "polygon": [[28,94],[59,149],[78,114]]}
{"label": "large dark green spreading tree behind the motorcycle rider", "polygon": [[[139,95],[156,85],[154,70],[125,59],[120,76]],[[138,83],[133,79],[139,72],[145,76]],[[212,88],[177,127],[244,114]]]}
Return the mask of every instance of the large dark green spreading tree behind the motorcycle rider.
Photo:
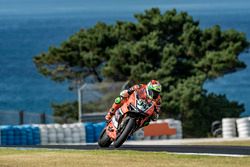
{"label": "large dark green spreading tree behind the motorcycle rider", "polygon": [[[98,81],[158,79],[163,86],[162,116],[181,119],[186,136],[204,136],[214,119],[244,111],[243,105],[209,95],[203,88],[208,79],[245,68],[238,59],[249,47],[244,33],[223,31],[218,25],[200,29],[199,22],[175,9],[161,13],[152,8],[135,18],[137,22],[97,23],[80,30],[60,47],[36,56],[34,62],[39,72],[55,81],[73,82],[89,75]],[[217,117],[211,112],[214,101],[222,102],[216,106]],[[227,113],[219,109],[232,105]],[[202,120],[205,129],[196,131],[195,121]]]}

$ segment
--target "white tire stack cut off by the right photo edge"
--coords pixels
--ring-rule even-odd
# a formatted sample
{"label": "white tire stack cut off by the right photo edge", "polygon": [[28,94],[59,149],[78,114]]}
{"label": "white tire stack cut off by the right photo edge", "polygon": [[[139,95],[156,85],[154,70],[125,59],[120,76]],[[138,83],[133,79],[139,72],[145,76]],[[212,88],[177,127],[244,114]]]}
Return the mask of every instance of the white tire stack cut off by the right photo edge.
{"label": "white tire stack cut off by the right photo edge", "polygon": [[250,136],[250,120],[249,118],[239,118],[236,120],[237,130],[240,138]]}

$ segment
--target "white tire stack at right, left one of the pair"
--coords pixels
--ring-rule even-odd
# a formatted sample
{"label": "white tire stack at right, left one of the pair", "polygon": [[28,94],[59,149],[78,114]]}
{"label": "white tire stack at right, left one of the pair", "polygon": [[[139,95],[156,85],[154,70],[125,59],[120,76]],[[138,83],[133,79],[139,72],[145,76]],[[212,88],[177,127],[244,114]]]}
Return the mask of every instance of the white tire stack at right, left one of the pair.
{"label": "white tire stack at right, left one of the pair", "polygon": [[222,135],[223,138],[234,138],[237,136],[235,118],[222,119]]}

